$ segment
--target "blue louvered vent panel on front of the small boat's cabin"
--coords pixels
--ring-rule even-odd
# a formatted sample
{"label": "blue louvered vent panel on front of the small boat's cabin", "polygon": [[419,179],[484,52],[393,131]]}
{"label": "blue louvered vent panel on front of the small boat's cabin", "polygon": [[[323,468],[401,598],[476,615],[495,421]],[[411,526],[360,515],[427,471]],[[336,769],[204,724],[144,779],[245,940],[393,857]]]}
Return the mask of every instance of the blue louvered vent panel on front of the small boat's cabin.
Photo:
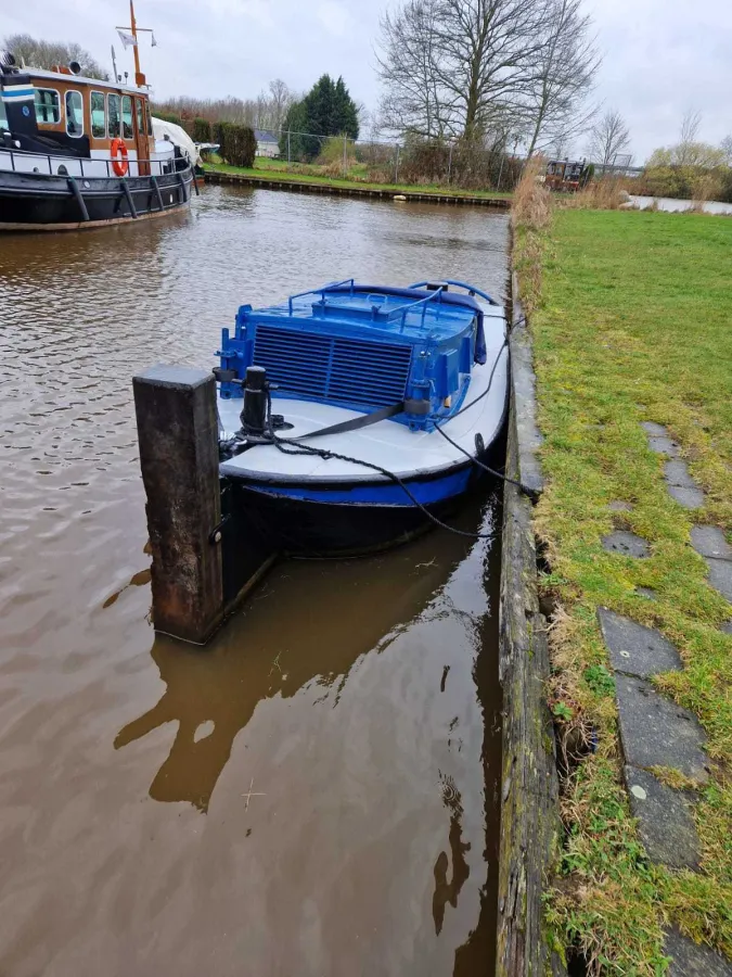
{"label": "blue louvered vent panel on front of the small boat's cabin", "polygon": [[257,326],[254,363],[280,390],[386,407],[403,399],[412,347]]}

